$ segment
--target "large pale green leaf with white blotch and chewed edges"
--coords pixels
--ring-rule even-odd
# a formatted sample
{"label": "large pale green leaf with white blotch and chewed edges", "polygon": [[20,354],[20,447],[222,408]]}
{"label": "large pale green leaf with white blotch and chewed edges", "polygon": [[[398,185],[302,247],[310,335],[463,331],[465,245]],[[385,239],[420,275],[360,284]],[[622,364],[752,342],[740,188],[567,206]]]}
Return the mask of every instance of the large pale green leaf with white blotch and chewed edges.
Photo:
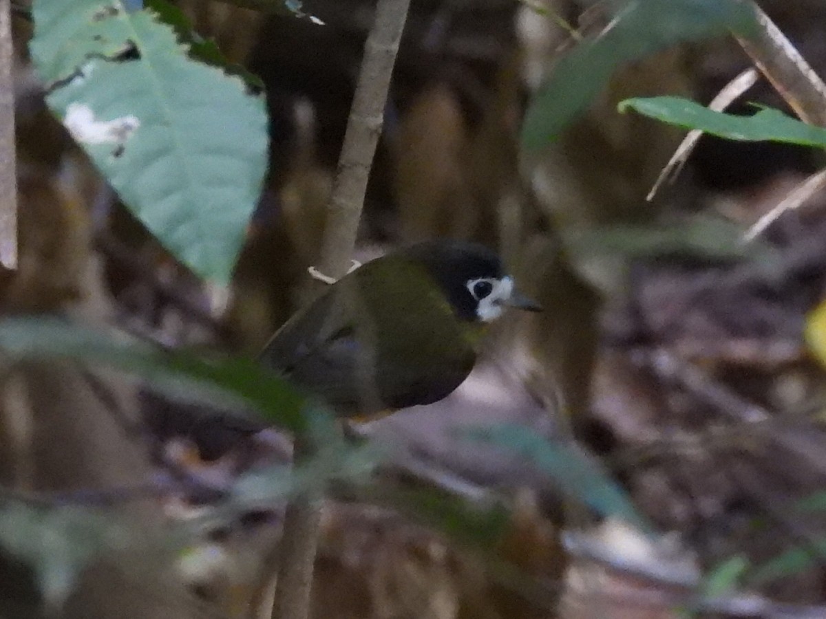
{"label": "large pale green leaf with white blotch and chewed edges", "polygon": [[50,109],[181,262],[226,282],[267,161],[263,98],[118,0],[36,0],[30,50]]}

